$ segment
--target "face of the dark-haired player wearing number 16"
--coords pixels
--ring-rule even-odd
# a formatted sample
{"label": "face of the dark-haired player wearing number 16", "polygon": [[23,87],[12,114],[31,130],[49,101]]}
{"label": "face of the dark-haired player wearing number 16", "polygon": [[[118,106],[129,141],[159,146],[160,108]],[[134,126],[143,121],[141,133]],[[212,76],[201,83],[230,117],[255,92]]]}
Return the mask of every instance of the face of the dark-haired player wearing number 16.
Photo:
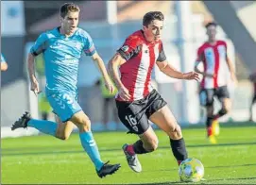
{"label": "face of the dark-haired player wearing number 16", "polygon": [[159,41],[162,36],[163,22],[159,20],[152,21],[149,25],[143,26],[145,38],[148,42]]}

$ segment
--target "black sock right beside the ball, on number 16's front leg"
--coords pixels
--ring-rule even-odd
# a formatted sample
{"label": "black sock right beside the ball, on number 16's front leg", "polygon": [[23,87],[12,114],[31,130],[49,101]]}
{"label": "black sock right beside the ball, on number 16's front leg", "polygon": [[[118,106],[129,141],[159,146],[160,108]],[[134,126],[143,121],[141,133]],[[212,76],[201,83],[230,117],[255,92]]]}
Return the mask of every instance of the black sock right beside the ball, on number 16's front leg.
{"label": "black sock right beside the ball, on number 16's front leg", "polygon": [[178,161],[186,160],[188,158],[188,153],[186,150],[184,139],[179,140],[170,139],[173,155]]}

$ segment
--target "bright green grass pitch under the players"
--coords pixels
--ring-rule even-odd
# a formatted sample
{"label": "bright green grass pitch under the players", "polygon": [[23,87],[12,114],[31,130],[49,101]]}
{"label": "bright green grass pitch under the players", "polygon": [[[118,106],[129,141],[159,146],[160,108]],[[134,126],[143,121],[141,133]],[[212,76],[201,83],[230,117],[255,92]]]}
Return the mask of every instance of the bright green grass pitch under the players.
{"label": "bright green grass pitch under the players", "polygon": [[[206,139],[205,128],[183,128],[189,157],[201,160],[205,167],[202,184],[256,184],[256,124],[221,125],[217,144]],[[94,165],[83,151],[77,133],[68,141],[51,136],[2,139],[2,184],[173,184],[179,183],[178,164],[168,137],[160,130],[159,148],[139,156],[143,172],[128,167],[121,150],[123,143],[137,137],[126,132],[94,133],[102,160],[120,162],[112,176],[99,178]]]}

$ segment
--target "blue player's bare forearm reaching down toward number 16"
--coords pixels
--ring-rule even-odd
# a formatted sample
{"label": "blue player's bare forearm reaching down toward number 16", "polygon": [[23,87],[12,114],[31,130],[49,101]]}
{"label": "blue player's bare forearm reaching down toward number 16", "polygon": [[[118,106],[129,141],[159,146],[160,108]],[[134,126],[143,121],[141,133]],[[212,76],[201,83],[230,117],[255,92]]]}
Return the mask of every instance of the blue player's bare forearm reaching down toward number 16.
{"label": "blue player's bare forearm reaching down toward number 16", "polygon": [[101,57],[98,55],[97,52],[94,53],[94,55],[92,56],[92,59],[94,59],[94,61],[96,62],[97,67],[104,78],[106,88],[112,93],[114,91],[114,86],[111,82],[111,78],[104,65],[103,59],[101,59]]}

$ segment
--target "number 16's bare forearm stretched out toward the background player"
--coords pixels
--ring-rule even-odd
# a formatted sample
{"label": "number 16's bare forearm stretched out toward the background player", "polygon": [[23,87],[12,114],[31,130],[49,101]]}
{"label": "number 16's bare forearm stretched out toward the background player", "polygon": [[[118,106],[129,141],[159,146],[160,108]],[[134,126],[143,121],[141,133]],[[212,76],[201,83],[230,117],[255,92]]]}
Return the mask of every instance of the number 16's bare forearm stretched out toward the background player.
{"label": "number 16's bare forearm stretched out toward the background player", "polygon": [[196,72],[189,72],[189,73],[181,73],[176,70],[170,63],[166,60],[164,61],[157,61],[157,66],[162,71],[163,74],[166,76],[174,77],[177,79],[195,79],[196,81],[199,80],[199,76]]}

